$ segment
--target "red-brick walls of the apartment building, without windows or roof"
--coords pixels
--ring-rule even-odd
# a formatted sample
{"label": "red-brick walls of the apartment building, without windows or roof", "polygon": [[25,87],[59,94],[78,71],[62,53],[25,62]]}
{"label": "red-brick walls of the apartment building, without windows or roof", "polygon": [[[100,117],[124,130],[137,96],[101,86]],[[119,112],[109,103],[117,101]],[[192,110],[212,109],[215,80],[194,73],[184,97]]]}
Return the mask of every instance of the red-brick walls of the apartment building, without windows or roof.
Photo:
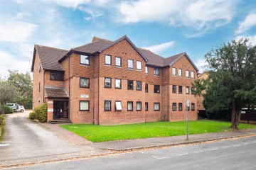
{"label": "red-brick walls of the apartment building, without windows or roof", "polygon": [[[93,43],[97,42],[97,38]],[[80,64],[80,55],[90,57],[90,64]],[[111,56],[111,64],[105,64],[105,55]],[[54,101],[68,100],[69,116],[73,123],[95,123],[100,125],[118,125],[129,123],[145,123],[154,121],[176,121],[186,119],[186,99],[195,103],[194,111],[188,111],[189,120],[197,119],[197,98],[191,94],[191,82],[197,79],[197,69],[187,55],[183,55],[171,65],[164,67],[147,64],[146,56],[143,56],[136,47],[123,38],[100,52],[87,54],[86,52],[72,51],[60,61],[64,71],[63,81],[50,80],[50,70],[42,69],[38,72],[38,52],[33,62],[33,108],[41,103],[48,103],[48,121],[53,120]],[[116,57],[121,58],[121,67],[115,65]],[[133,69],[128,68],[128,60],[133,61]],[[137,69],[142,64],[142,69]],[[145,73],[145,66],[148,73]],[[172,68],[176,68],[176,76],[172,75]],[[154,75],[154,69],[159,69],[159,75]],[[178,77],[178,69],[182,69],[182,77]],[[186,70],[194,72],[186,78]],[[80,78],[90,79],[90,87],[80,87]],[[105,87],[105,78],[111,78],[111,87]],[[121,80],[121,88],[115,88],[115,79]],[[128,80],[133,81],[133,89],[128,89]],[[141,90],[137,89],[141,83]],[[41,91],[38,91],[38,83],[41,83]],[[146,84],[148,91],[145,91]],[[154,92],[154,86],[160,87],[159,93]],[[172,93],[173,85],[176,85],[176,93]],[[44,91],[45,86],[64,87],[68,99],[49,98]],[[182,86],[182,94],[178,94],[178,86]],[[189,94],[186,94],[189,87]],[[50,102],[49,102],[50,101]],[[80,102],[89,103],[87,111],[80,111]],[[110,111],[105,111],[105,101],[111,101]],[[121,101],[122,111],[116,111],[115,101]],[[132,111],[128,111],[128,103],[132,102]],[[140,105],[141,103],[141,105]],[[145,104],[148,110],[145,111]],[[176,103],[176,111],[172,110],[172,104]],[[178,103],[183,103],[182,111],[178,111]],[[138,108],[141,108],[137,110]],[[140,107],[139,107],[140,106]],[[159,109],[156,109],[158,108]],[[191,108],[191,104],[190,104]]]}

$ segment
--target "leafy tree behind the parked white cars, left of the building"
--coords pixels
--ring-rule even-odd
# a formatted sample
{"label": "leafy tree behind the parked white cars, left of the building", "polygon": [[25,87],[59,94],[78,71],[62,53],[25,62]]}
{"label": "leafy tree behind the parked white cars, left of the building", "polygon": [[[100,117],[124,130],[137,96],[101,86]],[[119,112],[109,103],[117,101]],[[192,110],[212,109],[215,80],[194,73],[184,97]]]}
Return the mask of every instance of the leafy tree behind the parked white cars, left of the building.
{"label": "leafy tree behind the parked white cars, left of the building", "polygon": [[26,74],[23,74],[21,72],[18,72],[17,70],[9,70],[9,78],[7,79],[7,81],[16,86],[16,89],[21,94],[21,98],[18,98],[16,102],[22,103],[26,107],[31,108],[33,97],[33,84],[29,73],[26,72]]}

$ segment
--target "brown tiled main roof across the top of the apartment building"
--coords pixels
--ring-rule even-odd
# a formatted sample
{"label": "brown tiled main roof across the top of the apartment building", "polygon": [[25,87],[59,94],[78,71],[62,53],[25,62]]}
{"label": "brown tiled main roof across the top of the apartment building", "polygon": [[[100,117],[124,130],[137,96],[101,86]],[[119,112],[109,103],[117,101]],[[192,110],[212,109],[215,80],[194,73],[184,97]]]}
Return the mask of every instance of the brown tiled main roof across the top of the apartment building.
{"label": "brown tiled main roof across the top of the apartment building", "polygon": [[[174,64],[176,61],[178,61],[181,57],[185,55],[188,58],[188,60],[191,62],[193,67],[197,70],[197,72],[199,72],[198,68],[196,67],[195,64],[193,64],[193,62],[188,57],[186,52],[181,52],[178,55],[164,58],[164,57],[161,57],[160,55],[156,55],[154,52],[151,52],[150,50],[136,47],[126,35],[124,35],[122,38],[119,38],[115,41],[94,37],[92,39],[92,42],[79,47],[74,47],[69,51],[53,48],[53,47],[46,47],[42,45],[35,45],[35,49],[38,52],[43,69],[63,71],[63,67],[61,66],[60,62],[65,60],[65,58],[68,57],[68,55],[70,55],[71,53],[78,52],[78,53],[85,53],[87,55],[95,55],[124,39],[126,39],[132,45],[132,47],[134,47],[134,49],[137,50],[137,52],[144,58],[144,60],[146,61],[146,65],[148,66],[154,66],[154,67],[171,66],[172,64]],[[35,50],[34,50],[34,55],[35,55]],[[33,56],[33,62],[34,62],[34,56]],[[32,63],[32,71],[33,71],[33,63]]]}

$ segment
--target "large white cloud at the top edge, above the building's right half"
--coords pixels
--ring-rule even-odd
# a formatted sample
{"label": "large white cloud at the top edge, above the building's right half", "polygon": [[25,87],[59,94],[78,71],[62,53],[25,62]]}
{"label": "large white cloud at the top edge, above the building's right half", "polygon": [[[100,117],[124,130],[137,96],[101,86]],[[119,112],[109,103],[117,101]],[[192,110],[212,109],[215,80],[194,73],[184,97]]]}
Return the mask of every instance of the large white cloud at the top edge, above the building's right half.
{"label": "large white cloud at the top edge, above the building's right half", "polygon": [[234,1],[139,0],[119,4],[121,23],[166,22],[197,30],[215,28],[233,18]]}

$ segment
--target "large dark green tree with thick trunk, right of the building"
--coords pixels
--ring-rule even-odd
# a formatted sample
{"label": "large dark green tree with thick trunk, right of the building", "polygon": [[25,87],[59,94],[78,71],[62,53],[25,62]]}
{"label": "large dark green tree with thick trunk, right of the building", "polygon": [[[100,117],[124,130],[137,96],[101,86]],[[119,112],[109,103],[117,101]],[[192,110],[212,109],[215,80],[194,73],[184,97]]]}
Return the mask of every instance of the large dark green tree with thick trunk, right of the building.
{"label": "large dark green tree with thick trunk, right of the building", "polygon": [[231,111],[231,128],[238,130],[242,107],[256,104],[256,46],[248,39],[232,40],[205,55],[208,79],[196,80],[196,94],[206,90],[208,111]]}

